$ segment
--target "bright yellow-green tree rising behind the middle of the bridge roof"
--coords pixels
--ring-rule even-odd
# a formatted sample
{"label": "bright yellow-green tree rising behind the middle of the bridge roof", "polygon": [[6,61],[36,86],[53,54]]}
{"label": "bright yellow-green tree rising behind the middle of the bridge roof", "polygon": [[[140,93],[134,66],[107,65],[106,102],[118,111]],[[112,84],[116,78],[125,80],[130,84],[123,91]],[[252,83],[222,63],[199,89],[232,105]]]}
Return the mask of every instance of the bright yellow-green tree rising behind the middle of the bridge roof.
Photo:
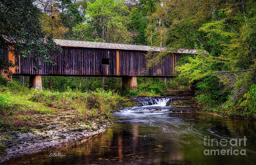
{"label": "bright yellow-green tree rising behind the middle of the bridge roof", "polygon": [[124,0],[96,0],[87,3],[84,23],[73,28],[79,38],[110,43],[129,43],[128,8]]}

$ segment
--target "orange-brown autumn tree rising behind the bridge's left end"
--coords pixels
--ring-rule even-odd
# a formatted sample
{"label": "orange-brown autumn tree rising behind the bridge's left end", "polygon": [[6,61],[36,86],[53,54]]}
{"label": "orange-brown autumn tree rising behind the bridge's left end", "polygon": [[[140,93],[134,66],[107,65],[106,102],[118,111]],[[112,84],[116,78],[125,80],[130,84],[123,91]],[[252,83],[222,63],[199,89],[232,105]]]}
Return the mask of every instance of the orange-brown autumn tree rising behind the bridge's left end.
{"label": "orange-brown autumn tree rising behind the bridge's left end", "polygon": [[36,0],[42,14],[41,23],[46,34],[56,39],[73,39],[72,28],[82,21],[86,0]]}

